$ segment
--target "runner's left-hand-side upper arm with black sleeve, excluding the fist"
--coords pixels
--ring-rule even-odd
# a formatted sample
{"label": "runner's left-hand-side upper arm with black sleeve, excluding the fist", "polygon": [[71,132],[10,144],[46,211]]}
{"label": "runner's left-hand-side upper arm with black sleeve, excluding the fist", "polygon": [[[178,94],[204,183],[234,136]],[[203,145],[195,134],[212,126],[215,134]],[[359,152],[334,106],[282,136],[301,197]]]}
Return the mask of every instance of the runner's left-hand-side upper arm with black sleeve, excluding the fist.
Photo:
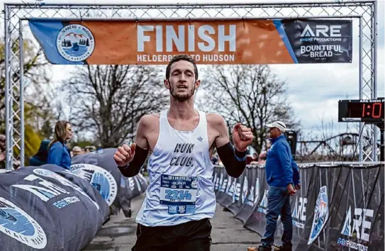
{"label": "runner's left-hand-side upper arm with black sleeve, excluding the fist", "polygon": [[140,168],[142,168],[147,159],[149,145],[147,138],[145,138],[145,130],[147,130],[148,120],[149,118],[147,118],[147,116],[143,116],[139,121],[138,129],[136,130],[136,147],[133,160],[125,167],[118,167],[124,177],[134,177],[138,175]]}

